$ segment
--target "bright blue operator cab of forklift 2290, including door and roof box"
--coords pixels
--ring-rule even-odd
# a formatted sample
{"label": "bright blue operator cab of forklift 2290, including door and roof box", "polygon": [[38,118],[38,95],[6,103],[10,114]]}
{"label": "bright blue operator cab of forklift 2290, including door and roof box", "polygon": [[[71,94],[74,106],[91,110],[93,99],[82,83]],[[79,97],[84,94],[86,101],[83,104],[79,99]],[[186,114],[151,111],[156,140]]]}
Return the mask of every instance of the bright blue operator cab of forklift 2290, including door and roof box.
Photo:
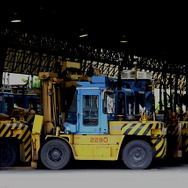
{"label": "bright blue operator cab of forklift 2290, including door and roof box", "polygon": [[115,109],[110,80],[106,76],[93,76],[91,82],[77,84],[79,86],[64,123],[65,132],[108,134],[108,116],[113,114]]}

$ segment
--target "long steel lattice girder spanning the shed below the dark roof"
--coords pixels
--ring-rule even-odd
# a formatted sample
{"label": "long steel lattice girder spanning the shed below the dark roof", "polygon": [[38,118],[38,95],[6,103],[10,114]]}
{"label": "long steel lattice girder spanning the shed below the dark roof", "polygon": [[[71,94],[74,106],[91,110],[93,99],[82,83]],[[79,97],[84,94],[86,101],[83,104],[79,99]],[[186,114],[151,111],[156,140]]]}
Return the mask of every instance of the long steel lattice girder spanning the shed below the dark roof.
{"label": "long steel lattice girder spanning the shed below the dark roof", "polygon": [[85,40],[64,41],[10,29],[1,31],[0,35],[5,37],[8,43],[4,64],[8,72],[38,75],[42,71],[56,71],[61,61],[71,60],[81,63],[83,73],[93,65],[100,69],[102,74],[117,77],[121,58],[122,70],[133,68],[136,61],[138,69],[152,72],[153,78],[160,79],[166,87],[170,87],[168,80],[171,80],[172,76],[169,75],[178,77],[180,88],[186,86],[186,65],[170,63],[164,59],[136,57],[136,54],[126,51],[127,48],[106,49],[91,45]]}

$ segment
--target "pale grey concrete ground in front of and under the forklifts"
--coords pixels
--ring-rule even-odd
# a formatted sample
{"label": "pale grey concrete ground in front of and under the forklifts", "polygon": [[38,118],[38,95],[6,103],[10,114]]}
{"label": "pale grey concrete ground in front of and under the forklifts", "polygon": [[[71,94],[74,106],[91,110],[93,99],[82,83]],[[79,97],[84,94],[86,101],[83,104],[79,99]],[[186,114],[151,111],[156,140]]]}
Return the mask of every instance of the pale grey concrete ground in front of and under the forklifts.
{"label": "pale grey concrete ground in front of and under the forklifts", "polygon": [[74,162],[59,171],[14,167],[0,169],[0,188],[182,188],[188,186],[188,163],[154,164],[129,170],[121,162]]}

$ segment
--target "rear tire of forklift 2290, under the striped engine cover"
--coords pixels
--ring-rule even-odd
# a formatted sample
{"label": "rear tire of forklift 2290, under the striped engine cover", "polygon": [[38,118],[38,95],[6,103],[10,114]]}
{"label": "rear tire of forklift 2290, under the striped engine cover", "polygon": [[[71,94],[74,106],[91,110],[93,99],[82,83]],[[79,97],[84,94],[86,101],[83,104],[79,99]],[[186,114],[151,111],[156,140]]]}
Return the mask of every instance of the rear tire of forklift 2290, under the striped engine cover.
{"label": "rear tire of forklift 2290, under the striped engine cover", "polygon": [[123,161],[130,169],[146,169],[153,161],[153,149],[144,140],[133,140],[123,149]]}

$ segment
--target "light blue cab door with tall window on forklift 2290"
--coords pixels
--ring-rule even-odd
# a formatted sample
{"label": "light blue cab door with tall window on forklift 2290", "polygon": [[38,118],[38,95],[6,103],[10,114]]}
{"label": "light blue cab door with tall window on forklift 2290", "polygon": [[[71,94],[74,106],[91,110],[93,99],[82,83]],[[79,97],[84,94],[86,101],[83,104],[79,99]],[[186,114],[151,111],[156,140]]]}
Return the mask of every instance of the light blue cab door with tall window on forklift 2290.
{"label": "light blue cab door with tall window on forklift 2290", "polygon": [[99,89],[80,89],[78,104],[79,133],[100,133],[100,106]]}

